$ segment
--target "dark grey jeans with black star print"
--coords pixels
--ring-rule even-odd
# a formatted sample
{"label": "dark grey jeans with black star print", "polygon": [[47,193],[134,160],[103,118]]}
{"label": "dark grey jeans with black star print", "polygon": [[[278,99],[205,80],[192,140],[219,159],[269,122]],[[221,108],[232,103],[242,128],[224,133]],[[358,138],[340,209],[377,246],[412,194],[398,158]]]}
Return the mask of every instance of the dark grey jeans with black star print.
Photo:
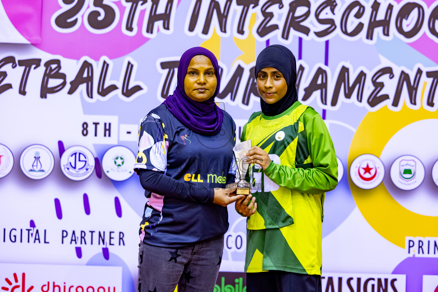
{"label": "dark grey jeans with black star print", "polygon": [[222,261],[224,237],[178,248],[138,250],[138,292],[211,292]]}

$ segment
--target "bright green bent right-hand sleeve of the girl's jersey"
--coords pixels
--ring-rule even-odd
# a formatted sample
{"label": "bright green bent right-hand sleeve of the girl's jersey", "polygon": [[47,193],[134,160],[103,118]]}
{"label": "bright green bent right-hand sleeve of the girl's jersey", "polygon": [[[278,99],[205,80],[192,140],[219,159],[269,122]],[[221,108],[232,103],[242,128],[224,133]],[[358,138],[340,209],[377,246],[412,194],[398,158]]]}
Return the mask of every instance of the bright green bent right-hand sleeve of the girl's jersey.
{"label": "bright green bent right-hand sleeve of the girl's jersey", "polygon": [[333,190],[338,183],[338,163],[329,130],[320,115],[307,121],[305,132],[313,168],[293,168],[271,161],[263,172],[279,186],[300,193],[318,194]]}

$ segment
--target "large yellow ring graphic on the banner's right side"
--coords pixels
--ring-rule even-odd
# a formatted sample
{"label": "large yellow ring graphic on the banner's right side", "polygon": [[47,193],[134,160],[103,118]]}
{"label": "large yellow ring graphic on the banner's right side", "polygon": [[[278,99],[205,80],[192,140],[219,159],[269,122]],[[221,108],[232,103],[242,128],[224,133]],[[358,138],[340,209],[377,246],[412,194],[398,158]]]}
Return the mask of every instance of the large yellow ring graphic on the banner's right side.
{"label": "large yellow ring graphic on the banner's right side", "polygon": [[[400,129],[426,119],[438,119],[438,113],[423,108],[413,110],[406,105],[399,112],[384,107],[367,113],[351,142],[348,169],[354,158],[361,154],[369,153],[380,157],[389,139]],[[406,138],[415,138],[415,133]],[[374,189],[363,190],[353,183],[350,175],[348,181],[354,201],[365,220],[391,243],[404,248],[406,236],[438,236],[438,216],[420,215],[404,208],[391,196],[383,183]]]}

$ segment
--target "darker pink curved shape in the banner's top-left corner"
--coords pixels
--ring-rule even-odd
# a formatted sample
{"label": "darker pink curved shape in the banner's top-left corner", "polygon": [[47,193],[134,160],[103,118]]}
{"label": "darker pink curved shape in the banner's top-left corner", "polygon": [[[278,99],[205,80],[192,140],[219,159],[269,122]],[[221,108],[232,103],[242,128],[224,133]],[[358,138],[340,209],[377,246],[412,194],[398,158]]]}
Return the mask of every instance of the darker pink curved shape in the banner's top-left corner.
{"label": "darker pink curved shape in the banner's top-left corner", "polygon": [[39,44],[42,0],[2,1],[2,4],[7,17],[18,32],[30,43]]}

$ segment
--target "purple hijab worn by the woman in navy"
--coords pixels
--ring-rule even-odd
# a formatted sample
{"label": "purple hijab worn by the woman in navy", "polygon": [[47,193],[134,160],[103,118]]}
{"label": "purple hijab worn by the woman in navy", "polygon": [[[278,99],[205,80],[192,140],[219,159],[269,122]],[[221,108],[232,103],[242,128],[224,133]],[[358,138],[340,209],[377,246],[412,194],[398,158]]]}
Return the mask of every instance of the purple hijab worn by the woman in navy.
{"label": "purple hijab worn by the woman in navy", "polygon": [[[184,77],[186,76],[189,63],[195,55],[199,54],[210,59],[217,78],[216,91],[205,102],[196,102],[190,99],[184,91]],[[215,55],[202,47],[194,47],[185,51],[178,65],[177,81],[177,88],[173,91],[173,95],[169,95],[164,101],[167,109],[184,126],[197,134],[212,136],[219,133],[222,127],[223,112],[215,104],[215,96],[219,93],[220,84],[219,65]]]}

